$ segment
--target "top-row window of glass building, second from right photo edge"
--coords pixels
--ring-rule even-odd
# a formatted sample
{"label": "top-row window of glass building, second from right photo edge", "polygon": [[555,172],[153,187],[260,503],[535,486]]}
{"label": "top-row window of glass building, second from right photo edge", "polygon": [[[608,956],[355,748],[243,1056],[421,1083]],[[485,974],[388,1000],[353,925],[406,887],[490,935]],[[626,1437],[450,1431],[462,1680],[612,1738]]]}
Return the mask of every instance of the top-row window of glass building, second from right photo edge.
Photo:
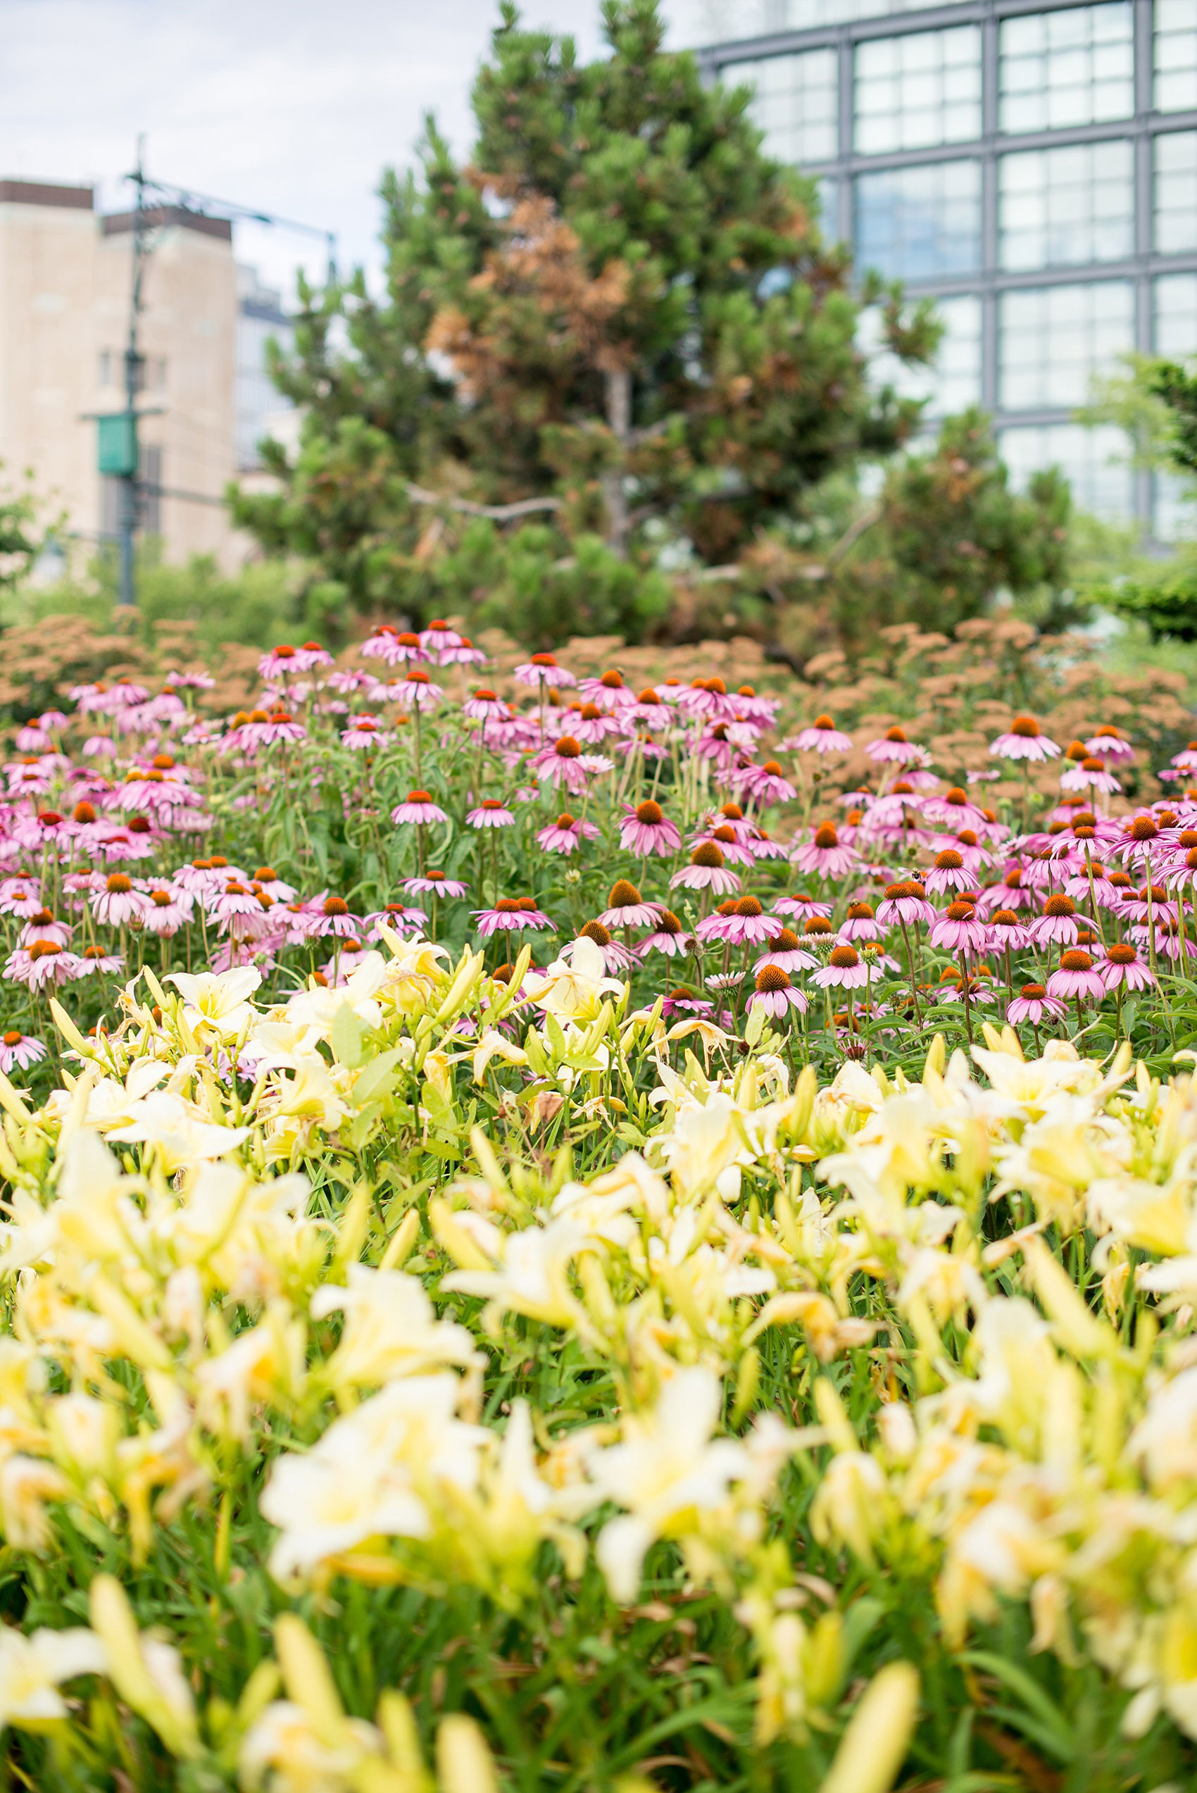
{"label": "top-row window of glass building, second from right photo edge", "polygon": [[1134,111],[1129,0],[1003,20],[998,95],[1002,131],[1059,131],[1129,118]]}

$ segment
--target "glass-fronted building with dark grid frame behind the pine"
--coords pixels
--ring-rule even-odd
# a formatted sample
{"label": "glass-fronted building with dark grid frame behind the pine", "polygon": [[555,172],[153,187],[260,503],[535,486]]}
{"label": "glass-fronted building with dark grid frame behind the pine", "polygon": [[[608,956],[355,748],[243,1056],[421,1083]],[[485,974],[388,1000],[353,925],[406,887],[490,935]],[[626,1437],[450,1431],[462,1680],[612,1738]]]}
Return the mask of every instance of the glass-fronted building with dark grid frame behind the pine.
{"label": "glass-fronted building with dark grid frame behind the pine", "polygon": [[928,418],[991,411],[1016,479],[1057,463],[1170,534],[1168,482],[1073,412],[1129,350],[1197,353],[1197,0],[763,0],[760,27],[706,66],[857,264],[937,299],[934,373],[887,377]]}

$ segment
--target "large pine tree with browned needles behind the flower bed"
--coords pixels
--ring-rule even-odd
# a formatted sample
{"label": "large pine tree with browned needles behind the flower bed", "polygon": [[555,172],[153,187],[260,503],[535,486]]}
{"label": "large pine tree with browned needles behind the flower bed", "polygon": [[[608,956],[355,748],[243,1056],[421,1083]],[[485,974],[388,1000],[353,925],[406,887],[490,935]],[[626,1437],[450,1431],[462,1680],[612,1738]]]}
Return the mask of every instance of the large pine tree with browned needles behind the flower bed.
{"label": "large pine tree with browned needles behind the flower bed", "polygon": [[762,154],[747,90],[661,52],[652,0],[604,25],[613,54],[579,66],[505,5],[471,161],[428,122],[419,174],[383,179],[385,292],[303,292],[274,366],[303,443],[235,515],[357,610],[643,637],[663,549],[735,563],[917,421],[855,333],[882,301],[887,344],[926,359],[930,308],[849,290],[814,185]]}

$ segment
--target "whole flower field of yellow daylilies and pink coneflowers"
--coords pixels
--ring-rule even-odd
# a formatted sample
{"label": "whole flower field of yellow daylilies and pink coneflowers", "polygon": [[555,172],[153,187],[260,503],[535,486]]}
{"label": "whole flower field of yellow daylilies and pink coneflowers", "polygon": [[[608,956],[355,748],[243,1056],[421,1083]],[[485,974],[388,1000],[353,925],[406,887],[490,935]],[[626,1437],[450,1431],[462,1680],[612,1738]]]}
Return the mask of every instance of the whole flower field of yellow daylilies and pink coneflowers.
{"label": "whole flower field of yellow daylilies and pink coneflowers", "polygon": [[1193,1782],[1197,744],[971,628],[14,732],[7,1784]]}

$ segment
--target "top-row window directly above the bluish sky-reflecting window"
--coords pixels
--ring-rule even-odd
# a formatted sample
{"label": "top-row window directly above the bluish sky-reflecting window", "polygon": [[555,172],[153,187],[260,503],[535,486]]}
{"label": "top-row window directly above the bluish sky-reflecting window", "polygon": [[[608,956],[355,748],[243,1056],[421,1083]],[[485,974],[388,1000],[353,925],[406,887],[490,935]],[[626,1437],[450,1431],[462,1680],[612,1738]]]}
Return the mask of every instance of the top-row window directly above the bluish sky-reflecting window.
{"label": "top-row window directly above the bluish sky-reflecting window", "polygon": [[864,156],[980,136],[980,29],[860,43],[855,108],[853,142]]}

